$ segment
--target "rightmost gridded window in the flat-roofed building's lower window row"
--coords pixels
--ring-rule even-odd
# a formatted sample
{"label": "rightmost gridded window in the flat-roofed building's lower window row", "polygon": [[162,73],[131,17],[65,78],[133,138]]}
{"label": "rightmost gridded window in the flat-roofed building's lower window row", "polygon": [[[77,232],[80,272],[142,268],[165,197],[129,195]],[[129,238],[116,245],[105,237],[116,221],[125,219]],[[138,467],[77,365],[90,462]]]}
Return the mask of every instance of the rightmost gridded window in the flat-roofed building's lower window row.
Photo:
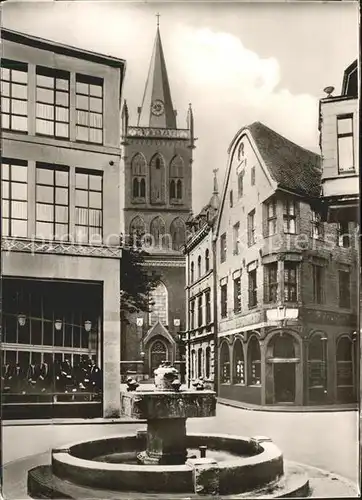
{"label": "rightmost gridded window in the flat-roofed building's lower window row", "polygon": [[75,229],[78,242],[102,242],[102,206],[103,173],[77,169],[75,172]]}

